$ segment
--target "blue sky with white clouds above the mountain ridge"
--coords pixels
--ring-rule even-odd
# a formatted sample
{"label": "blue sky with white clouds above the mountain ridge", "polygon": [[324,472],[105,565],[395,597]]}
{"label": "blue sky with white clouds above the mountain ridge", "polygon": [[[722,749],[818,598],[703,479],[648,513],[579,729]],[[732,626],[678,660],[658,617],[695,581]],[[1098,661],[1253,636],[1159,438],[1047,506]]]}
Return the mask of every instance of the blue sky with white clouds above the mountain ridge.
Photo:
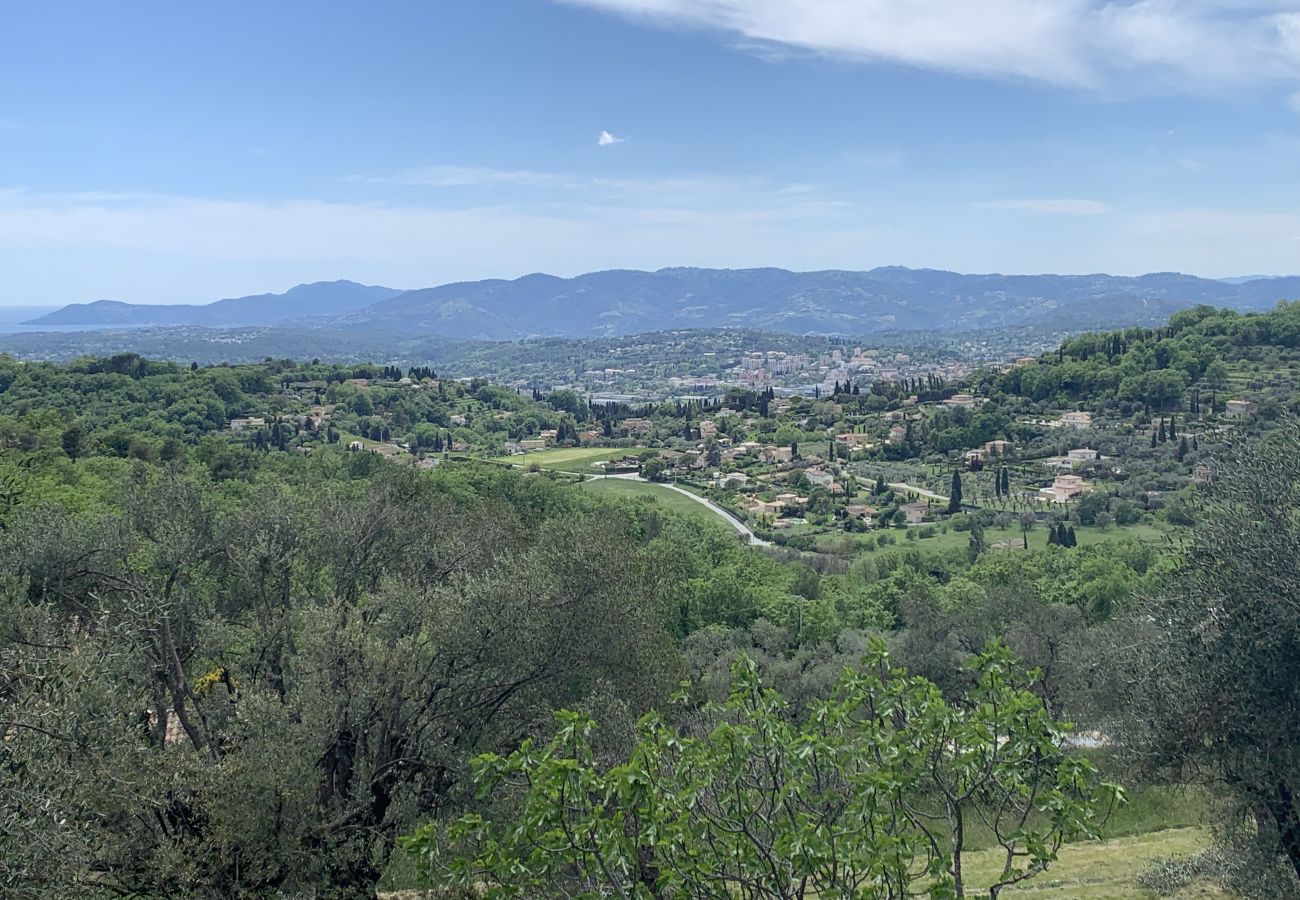
{"label": "blue sky with white clouds above the mountain ridge", "polygon": [[1300,0],[0,5],[0,306],[1300,272]]}

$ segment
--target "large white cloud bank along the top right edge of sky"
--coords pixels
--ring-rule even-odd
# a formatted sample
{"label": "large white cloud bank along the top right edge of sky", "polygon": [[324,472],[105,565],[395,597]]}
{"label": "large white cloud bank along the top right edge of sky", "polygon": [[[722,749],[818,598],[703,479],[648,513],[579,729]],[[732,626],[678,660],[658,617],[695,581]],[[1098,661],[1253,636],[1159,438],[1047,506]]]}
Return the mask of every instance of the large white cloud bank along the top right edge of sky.
{"label": "large white cloud bank along the top right edge of sky", "polygon": [[968,75],[1190,88],[1300,81],[1297,0],[564,0],[744,42]]}

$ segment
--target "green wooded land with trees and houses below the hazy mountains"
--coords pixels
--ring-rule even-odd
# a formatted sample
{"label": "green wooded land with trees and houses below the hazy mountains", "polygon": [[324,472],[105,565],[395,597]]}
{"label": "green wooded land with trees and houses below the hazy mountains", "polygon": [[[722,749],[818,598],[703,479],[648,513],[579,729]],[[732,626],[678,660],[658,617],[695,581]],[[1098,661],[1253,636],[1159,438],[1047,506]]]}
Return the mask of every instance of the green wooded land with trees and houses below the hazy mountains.
{"label": "green wooded land with trees and houses below the hazy mountains", "polygon": [[975,896],[1214,813],[1161,883],[1291,896],[1295,319],[645,408],[0,360],[0,891]]}

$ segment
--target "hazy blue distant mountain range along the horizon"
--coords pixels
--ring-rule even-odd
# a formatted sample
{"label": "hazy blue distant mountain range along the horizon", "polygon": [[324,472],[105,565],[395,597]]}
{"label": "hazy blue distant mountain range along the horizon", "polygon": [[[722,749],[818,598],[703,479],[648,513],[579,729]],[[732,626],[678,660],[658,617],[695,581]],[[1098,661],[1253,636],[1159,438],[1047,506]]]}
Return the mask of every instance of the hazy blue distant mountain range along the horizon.
{"label": "hazy blue distant mountain range along the horizon", "polygon": [[870,272],[696,269],[529,274],[400,291],[351,281],[299,285],[205,306],[99,300],[35,319],[49,326],[292,324],[448,339],[611,337],[679,328],[744,326],[796,334],[1039,326],[1076,330],[1156,324],[1209,303],[1266,310],[1300,298],[1300,277],[1210,280],[1178,273],[959,274],[884,267]]}

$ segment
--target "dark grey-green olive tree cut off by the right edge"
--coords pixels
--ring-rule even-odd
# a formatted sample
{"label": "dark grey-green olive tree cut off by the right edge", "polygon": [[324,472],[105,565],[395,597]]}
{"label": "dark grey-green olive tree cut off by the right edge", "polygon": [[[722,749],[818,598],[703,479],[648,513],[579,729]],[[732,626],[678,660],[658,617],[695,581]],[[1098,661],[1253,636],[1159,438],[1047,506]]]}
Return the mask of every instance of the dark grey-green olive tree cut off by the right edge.
{"label": "dark grey-green olive tree cut off by the right edge", "polygon": [[1117,623],[1102,668],[1117,737],[1149,778],[1226,788],[1300,877],[1300,427],[1231,441],[1164,588]]}

